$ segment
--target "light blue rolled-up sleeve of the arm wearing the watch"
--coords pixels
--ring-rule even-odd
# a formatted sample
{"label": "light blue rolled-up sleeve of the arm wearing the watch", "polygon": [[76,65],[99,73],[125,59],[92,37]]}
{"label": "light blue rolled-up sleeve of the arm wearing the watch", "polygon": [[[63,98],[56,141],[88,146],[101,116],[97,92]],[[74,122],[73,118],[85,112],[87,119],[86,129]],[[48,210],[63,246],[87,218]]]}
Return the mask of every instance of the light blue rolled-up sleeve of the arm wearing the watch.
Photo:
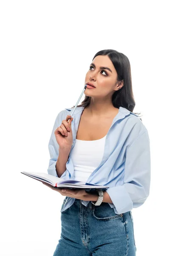
{"label": "light blue rolled-up sleeve of the arm wearing the watch", "polygon": [[150,192],[150,140],[147,129],[126,149],[123,184],[106,189],[115,213],[141,206]]}

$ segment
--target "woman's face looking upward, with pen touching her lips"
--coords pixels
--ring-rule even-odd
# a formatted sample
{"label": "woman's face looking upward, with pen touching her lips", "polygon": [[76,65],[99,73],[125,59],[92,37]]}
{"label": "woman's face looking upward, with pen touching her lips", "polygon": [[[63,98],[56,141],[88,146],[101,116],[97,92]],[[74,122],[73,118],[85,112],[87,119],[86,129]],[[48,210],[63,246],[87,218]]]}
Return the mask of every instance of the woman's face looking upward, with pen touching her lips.
{"label": "woman's face looking upward, with pen touching her lips", "polygon": [[[117,72],[112,61],[107,55],[98,55],[94,58],[93,64],[90,64],[89,70],[85,76],[85,84],[88,82],[96,88],[88,89],[86,87],[84,93],[87,96],[105,97],[112,96],[116,90],[123,86],[123,80],[117,81]],[[108,67],[108,69],[100,69],[100,67]]]}

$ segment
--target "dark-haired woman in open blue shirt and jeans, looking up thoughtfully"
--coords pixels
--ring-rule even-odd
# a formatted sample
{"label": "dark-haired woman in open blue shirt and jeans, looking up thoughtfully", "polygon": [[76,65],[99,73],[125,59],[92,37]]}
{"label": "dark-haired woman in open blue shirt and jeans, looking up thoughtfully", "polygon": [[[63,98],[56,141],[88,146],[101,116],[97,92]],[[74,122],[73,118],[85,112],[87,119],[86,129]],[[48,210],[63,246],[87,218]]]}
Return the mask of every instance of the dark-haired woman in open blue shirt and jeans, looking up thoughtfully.
{"label": "dark-haired woman in open blue shirt and jeans, looking up thoughtfully", "polygon": [[94,87],[86,87],[85,99],[70,121],[74,107],[56,118],[48,173],[109,188],[99,194],[52,188],[66,196],[54,256],[134,256],[131,209],[149,195],[150,140],[142,119],[132,112],[128,58],[111,49],[97,52],[85,76],[89,83]]}

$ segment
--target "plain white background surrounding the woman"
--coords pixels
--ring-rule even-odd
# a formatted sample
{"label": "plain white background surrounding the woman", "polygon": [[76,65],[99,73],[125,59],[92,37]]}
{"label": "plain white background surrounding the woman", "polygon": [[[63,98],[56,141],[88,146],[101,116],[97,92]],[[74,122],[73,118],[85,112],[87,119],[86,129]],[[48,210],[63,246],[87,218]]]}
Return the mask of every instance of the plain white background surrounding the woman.
{"label": "plain white background surrounding the woman", "polygon": [[[150,195],[132,210],[136,255],[169,252],[168,1],[0,2],[0,255],[52,256],[65,196],[20,172],[45,172],[59,111],[76,104],[92,58],[124,53],[150,137]],[[83,94],[79,104],[85,95]]]}

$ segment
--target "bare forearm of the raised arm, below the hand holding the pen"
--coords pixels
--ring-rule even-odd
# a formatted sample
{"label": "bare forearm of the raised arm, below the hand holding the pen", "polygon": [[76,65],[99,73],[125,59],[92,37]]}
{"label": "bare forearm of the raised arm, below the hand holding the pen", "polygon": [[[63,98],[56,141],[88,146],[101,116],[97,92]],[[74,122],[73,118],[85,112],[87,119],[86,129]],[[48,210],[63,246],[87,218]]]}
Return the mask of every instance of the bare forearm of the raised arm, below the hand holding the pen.
{"label": "bare forearm of the raised arm, below the hand holding the pen", "polygon": [[61,177],[61,175],[66,170],[66,163],[68,161],[69,154],[70,154],[70,150],[66,151],[66,150],[59,149],[59,156],[56,162],[56,172],[58,177]]}

